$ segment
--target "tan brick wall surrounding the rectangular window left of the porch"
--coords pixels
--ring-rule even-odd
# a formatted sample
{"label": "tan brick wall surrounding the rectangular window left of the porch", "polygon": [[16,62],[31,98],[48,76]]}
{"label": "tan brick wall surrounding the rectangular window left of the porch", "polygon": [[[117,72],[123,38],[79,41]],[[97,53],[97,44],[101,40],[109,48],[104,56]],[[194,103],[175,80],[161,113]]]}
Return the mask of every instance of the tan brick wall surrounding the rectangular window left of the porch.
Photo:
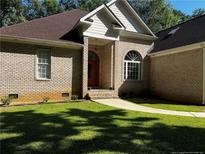
{"label": "tan brick wall surrounding the rectangular window left of the porch", "polygon": [[[80,95],[82,82],[82,52],[72,49],[51,48],[51,80],[35,79],[35,45],[1,43],[0,97],[18,94],[17,102],[69,99],[71,92]],[[74,68],[75,67],[75,68]],[[62,97],[69,93],[69,97]]]}

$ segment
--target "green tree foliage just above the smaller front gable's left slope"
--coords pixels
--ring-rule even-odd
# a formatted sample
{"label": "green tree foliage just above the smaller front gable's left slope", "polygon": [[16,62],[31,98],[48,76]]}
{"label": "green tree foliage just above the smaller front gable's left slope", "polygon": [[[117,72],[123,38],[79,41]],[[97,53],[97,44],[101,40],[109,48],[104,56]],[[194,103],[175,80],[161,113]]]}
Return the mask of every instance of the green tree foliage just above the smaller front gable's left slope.
{"label": "green tree foliage just above the smaller front gable's left slope", "polygon": [[92,11],[98,6],[107,3],[108,0],[79,0],[78,5],[79,8],[86,10],[86,11]]}

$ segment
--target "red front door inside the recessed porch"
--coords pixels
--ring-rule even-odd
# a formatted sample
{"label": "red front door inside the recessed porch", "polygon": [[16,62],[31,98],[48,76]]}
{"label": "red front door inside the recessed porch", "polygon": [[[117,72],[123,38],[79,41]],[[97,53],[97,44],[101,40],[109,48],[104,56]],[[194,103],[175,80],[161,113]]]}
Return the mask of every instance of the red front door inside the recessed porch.
{"label": "red front door inside the recessed porch", "polygon": [[88,87],[99,87],[99,62],[97,60],[88,61]]}

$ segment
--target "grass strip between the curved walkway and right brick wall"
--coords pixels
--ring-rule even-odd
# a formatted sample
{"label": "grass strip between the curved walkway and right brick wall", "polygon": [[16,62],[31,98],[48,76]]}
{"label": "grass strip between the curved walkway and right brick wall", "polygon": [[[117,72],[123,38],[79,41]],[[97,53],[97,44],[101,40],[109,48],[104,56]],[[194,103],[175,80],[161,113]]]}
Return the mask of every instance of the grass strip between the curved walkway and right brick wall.
{"label": "grass strip between the curved walkway and right brick wall", "polygon": [[186,111],[186,112],[205,112],[205,106],[197,105],[182,105],[179,103],[173,103],[171,101],[157,100],[157,99],[139,99],[131,98],[127,99],[130,102],[134,102],[139,105],[153,107],[157,109]]}

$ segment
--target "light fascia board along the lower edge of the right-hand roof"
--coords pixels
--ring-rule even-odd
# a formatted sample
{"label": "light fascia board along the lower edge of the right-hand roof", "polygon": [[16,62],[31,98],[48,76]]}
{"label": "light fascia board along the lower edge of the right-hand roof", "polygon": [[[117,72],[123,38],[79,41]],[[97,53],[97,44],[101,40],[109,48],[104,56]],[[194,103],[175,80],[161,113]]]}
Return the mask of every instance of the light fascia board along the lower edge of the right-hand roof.
{"label": "light fascia board along the lower edge of the right-hand roof", "polygon": [[200,49],[203,46],[205,46],[205,42],[199,42],[199,43],[185,45],[185,46],[181,46],[181,47],[177,47],[177,48],[162,50],[162,51],[159,51],[156,53],[150,53],[148,55],[151,57],[159,57],[159,56],[164,56],[164,55],[170,55],[170,54],[190,51],[190,50],[194,50],[194,49]]}

